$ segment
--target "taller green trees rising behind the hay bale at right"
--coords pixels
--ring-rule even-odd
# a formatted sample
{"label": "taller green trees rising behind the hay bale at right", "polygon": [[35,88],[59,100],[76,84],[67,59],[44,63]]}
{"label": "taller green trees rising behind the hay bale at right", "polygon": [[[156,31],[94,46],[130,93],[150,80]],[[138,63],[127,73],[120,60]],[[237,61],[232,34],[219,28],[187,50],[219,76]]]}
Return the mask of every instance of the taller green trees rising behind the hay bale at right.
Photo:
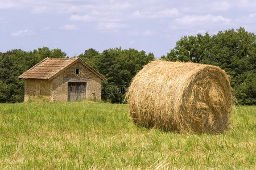
{"label": "taller green trees rising behind the hay bale at right", "polygon": [[184,36],[167,56],[170,61],[197,62],[220,66],[231,75],[231,86],[240,104],[256,104],[256,36],[239,28],[210,36]]}

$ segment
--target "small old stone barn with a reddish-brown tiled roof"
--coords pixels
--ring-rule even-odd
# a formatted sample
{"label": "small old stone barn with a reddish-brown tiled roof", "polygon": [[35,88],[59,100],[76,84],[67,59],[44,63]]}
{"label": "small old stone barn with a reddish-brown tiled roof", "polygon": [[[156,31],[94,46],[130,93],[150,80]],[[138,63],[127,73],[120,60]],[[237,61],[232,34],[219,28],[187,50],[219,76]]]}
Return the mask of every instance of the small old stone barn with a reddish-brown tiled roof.
{"label": "small old stone barn with a reddish-brown tiled roof", "polygon": [[25,79],[24,101],[42,96],[49,101],[101,100],[106,78],[81,58],[45,58],[19,76]]}

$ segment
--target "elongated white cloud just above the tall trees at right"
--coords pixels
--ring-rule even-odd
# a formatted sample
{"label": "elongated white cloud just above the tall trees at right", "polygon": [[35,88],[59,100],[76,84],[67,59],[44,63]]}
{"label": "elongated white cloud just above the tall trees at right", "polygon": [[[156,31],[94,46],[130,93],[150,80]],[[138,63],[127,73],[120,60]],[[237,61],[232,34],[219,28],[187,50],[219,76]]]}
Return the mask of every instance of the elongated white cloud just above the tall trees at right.
{"label": "elongated white cloud just above the tall trees at right", "polygon": [[221,15],[214,16],[214,15],[185,15],[182,18],[175,19],[175,22],[182,24],[182,25],[191,25],[191,24],[206,24],[206,23],[230,23],[231,20],[228,18],[224,18]]}

